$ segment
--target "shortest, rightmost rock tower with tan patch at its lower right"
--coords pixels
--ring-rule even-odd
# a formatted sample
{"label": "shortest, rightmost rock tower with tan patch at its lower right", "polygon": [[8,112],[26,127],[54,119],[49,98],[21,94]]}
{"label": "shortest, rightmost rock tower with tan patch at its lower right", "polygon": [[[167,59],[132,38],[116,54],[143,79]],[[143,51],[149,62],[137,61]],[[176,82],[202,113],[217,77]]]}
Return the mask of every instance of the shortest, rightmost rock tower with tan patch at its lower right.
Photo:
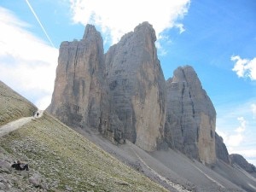
{"label": "shortest, rightmost rock tower with tan patch at its lower right", "polygon": [[166,142],[188,156],[216,160],[216,112],[192,67],[178,67],[166,82]]}

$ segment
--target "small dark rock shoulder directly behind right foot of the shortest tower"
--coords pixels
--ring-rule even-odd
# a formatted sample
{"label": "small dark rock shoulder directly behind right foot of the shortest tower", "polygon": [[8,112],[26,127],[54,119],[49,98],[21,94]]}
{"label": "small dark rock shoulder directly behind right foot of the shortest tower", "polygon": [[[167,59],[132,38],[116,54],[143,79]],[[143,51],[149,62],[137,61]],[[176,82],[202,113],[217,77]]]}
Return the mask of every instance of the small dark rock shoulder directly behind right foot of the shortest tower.
{"label": "small dark rock shoulder directly behind right foot of the shortest tower", "polygon": [[223,138],[218,136],[217,132],[215,132],[215,148],[218,160],[223,160],[225,163],[230,164],[228,149],[223,142]]}

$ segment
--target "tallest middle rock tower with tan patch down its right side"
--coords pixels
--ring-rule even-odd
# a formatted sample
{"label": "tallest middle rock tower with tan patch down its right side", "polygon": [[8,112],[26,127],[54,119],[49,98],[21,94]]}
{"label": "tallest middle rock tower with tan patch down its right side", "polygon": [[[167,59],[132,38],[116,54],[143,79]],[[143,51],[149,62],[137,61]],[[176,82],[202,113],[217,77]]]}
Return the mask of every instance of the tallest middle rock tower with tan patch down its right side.
{"label": "tallest middle rock tower with tan patch down its right side", "polygon": [[123,137],[152,151],[164,131],[165,79],[157,58],[154,29],[148,22],[127,33],[105,56],[111,111]]}

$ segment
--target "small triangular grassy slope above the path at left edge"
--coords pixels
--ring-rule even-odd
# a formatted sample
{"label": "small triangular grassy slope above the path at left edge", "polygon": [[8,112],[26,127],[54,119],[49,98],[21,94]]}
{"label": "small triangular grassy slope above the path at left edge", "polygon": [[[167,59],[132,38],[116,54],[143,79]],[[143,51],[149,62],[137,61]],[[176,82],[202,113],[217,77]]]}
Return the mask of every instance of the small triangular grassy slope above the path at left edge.
{"label": "small triangular grassy slope above the path at left edge", "polygon": [[37,108],[0,81],[0,126],[20,117],[32,116]]}

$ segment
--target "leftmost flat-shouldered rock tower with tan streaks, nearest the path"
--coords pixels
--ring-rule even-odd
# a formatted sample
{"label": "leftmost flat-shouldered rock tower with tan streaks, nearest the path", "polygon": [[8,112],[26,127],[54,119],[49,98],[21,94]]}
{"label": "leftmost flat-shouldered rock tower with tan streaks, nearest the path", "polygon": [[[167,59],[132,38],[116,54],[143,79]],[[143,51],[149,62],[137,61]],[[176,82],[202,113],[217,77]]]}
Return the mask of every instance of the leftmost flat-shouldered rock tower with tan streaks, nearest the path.
{"label": "leftmost flat-shouldered rock tower with tan streaks, nearest the path", "polygon": [[[105,66],[102,37],[87,25],[80,41],[63,42],[49,112],[67,125],[102,129]],[[103,122],[103,123],[102,123]]]}

